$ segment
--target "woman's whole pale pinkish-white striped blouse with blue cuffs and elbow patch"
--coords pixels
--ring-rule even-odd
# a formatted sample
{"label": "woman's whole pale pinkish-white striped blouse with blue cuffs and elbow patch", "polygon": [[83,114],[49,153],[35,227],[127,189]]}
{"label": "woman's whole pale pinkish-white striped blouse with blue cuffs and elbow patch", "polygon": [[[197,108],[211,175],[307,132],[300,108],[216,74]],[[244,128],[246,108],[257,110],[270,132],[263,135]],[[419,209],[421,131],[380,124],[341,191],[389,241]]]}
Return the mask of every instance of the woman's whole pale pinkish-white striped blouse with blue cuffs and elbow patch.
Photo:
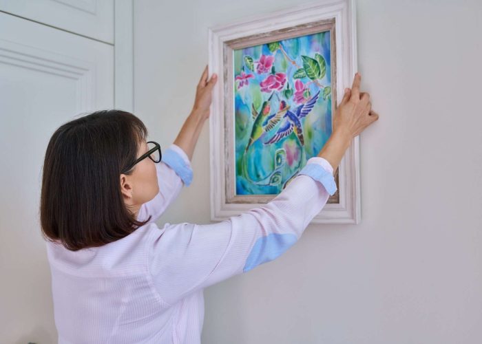
{"label": "woman's whole pale pinkish-white striped blouse with blue cuffs and elbow patch", "polygon": [[192,169],[175,144],[156,164],[159,193],[123,239],[67,250],[47,242],[59,343],[200,343],[202,290],[271,261],[300,238],[337,190],[333,168],[310,158],[271,202],[213,224],[155,221],[189,185]]}

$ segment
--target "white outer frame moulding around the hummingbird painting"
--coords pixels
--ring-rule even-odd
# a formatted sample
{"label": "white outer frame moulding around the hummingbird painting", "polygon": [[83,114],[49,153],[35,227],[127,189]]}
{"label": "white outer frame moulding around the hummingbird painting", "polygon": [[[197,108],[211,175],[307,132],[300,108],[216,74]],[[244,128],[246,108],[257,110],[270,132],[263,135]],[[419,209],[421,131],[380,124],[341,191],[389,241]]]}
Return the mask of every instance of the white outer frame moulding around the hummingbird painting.
{"label": "white outer frame moulding around the hummingbird painting", "polygon": [[[233,132],[230,129],[225,130],[225,116],[233,115],[224,114],[226,83],[233,82],[233,76],[228,76],[226,72],[229,69],[224,55],[224,50],[229,51],[226,42],[326,19],[335,19],[336,59],[334,63],[337,67],[335,92],[342,95],[344,87],[351,86],[353,76],[357,72],[355,0],[318,1],[209,28],[209,72],[220,76],[213,89],[213,102],[209,116],[212,220],[221,221],[264,204],[227,202],[226,169],[229,163],[234,164],[234,162],[227,161],[228,147],[225,147],[224,143],[226,134]],[[266,42],[269,42],[269,39]],[[337,100],[338,103],[339,101],[341,99]],[[327,203],[311,223],[358,224],[360,221],[359,180],[359,136],[357,136],[339,164],[339,202]],[[262,198],[264,202],[266,197]]]}

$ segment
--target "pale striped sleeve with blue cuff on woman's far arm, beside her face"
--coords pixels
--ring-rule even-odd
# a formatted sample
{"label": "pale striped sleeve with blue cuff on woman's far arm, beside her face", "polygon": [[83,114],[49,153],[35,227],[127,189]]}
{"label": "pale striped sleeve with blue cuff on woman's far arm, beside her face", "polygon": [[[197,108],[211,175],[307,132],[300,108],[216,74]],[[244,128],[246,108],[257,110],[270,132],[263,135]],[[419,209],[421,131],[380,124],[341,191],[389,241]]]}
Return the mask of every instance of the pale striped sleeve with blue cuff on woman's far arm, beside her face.
{"label": "pale striped sleeve with blue cuff on woman's far arm, beside her face", "polygon": [[156,164],[159,193],[149,202],[140,206],[138,220],[151,215],[149,223],[155,222],[166,208],[176,199],[182,185],[189,186],[193,178],[189,157],[178,145],[171,144]]}

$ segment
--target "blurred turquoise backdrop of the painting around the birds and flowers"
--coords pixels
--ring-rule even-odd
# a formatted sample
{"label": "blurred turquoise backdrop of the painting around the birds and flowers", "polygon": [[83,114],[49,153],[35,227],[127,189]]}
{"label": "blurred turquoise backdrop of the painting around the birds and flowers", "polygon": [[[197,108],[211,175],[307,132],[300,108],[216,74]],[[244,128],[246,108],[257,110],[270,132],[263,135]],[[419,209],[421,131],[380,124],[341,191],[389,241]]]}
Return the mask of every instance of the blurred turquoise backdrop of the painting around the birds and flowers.
{"label": "blurred turquoise backdrop of the painting around the birds and flowers", "polygon": [[[303,67],[302,55],[313,58],[315,53],[318,53],[324,57],[326,61],[326,74],[324,77],[318,79],[318,82],[324,87],[331,87],[331,45],[329,31],[286,39],[280,41],[280,46],[284,52],[282,52],[281,49],[271,52],[267,43],[233,51],[234,77],[240,75],[241,72],[253,75],[253,78],[247,79],[249,81],[248,85],[243,85],[238,88],[239,81],[235,81],[233,87],[235,109],[235,182],[237,195],[280,193],[286,181],[302,169],[304,164],[306,164],[306,160],[317,155],[331,135],[331,94],[324,99],[323,89],[320,89],[315,83],[310,83],[307,87],[310,90],[311,96],[315,95],[318,91],[321,92],[311,112],[308,116],[301,119],[304,146],[301,145],[294,131],[278,142],[264,144],[264,142],[269,140],[280,128],[283,122],[280,120],[276,127],[271,129],[271,131],[263,133],[258,140],[253,142],[247,151],[247,156],[243,157],[244,149],[249,142],[254,123],[254,119],[251,117],[251,106],[254,105],[255,109],[259,111],[262,103],[268,100],[271,95],[271,92],[261,92],[260,89],[260,83],[269,76],[269,73],[258,74],[256,72],[256,62],[262,54],[266,56],[274,54],[273,67],[275,72],[286,74],[284,88],[276,91],[277,96],[271,98],[271,114],[279,109],[280,100],[285,100],[293,112],[296,107],[300,106],[300,104],[294,102],[293,96],[285,98],[283,91],[286,89],[288,83],[289,87],[293,89],[293,92],[295,91],[296,79],[293,78],[293,74],[295,74],[297,69]],[[293,65],[284,53],[286,53],[291,60],[295,61],[297,65]],[[253,71],[249,70],[248,66],[244,63],[244,56],[251,56],[253,58],[255,62]],[[309,83],[310,78],[305,76],[304,78],[300,78],[300,80],[306,84]],[[311,96],[308,97],[308,99],[311,98]],[[286,151],[286,162],[279,168],[281,182],[275,185],[269,184],[268,180],[275,169],[275,151],[281,148]],[[243,163],[246,164],[246,171],[250,180],[244,178],[242,173]]]}

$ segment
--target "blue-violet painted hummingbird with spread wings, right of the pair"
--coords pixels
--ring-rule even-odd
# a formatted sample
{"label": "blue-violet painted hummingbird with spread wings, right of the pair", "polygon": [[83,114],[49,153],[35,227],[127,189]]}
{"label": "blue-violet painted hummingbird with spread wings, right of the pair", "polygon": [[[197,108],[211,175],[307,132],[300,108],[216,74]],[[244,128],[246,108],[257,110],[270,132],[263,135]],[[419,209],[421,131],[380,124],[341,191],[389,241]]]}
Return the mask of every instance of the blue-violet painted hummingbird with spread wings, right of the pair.
{"label": "blue-violet painted hummingbird with spread wings, right of the pair", "polygon": [[[273,114],[272,116],[269,116],[269,118],[266,118],[266,128],[269,128],[269,130],[273,129],[273,127],[275,127],[275,125],[281,120],[280,129],[276,131],[272,138],[264,142],[264,144],[276,143],[282,138],[289,136],[294,131],[297,138],[300,140],[300,143],[304,145],[303,128],[300,120],[311,112],[318,100],[318,96],[319,91],[306,103],[297,107],[294,112],[291,111],[289,106],[286,105],[286,102],[282,100],[280,103],[280,111],[278,111],[277,114]],[[282,108],[286,109],[286,111],[281,111]]]}

